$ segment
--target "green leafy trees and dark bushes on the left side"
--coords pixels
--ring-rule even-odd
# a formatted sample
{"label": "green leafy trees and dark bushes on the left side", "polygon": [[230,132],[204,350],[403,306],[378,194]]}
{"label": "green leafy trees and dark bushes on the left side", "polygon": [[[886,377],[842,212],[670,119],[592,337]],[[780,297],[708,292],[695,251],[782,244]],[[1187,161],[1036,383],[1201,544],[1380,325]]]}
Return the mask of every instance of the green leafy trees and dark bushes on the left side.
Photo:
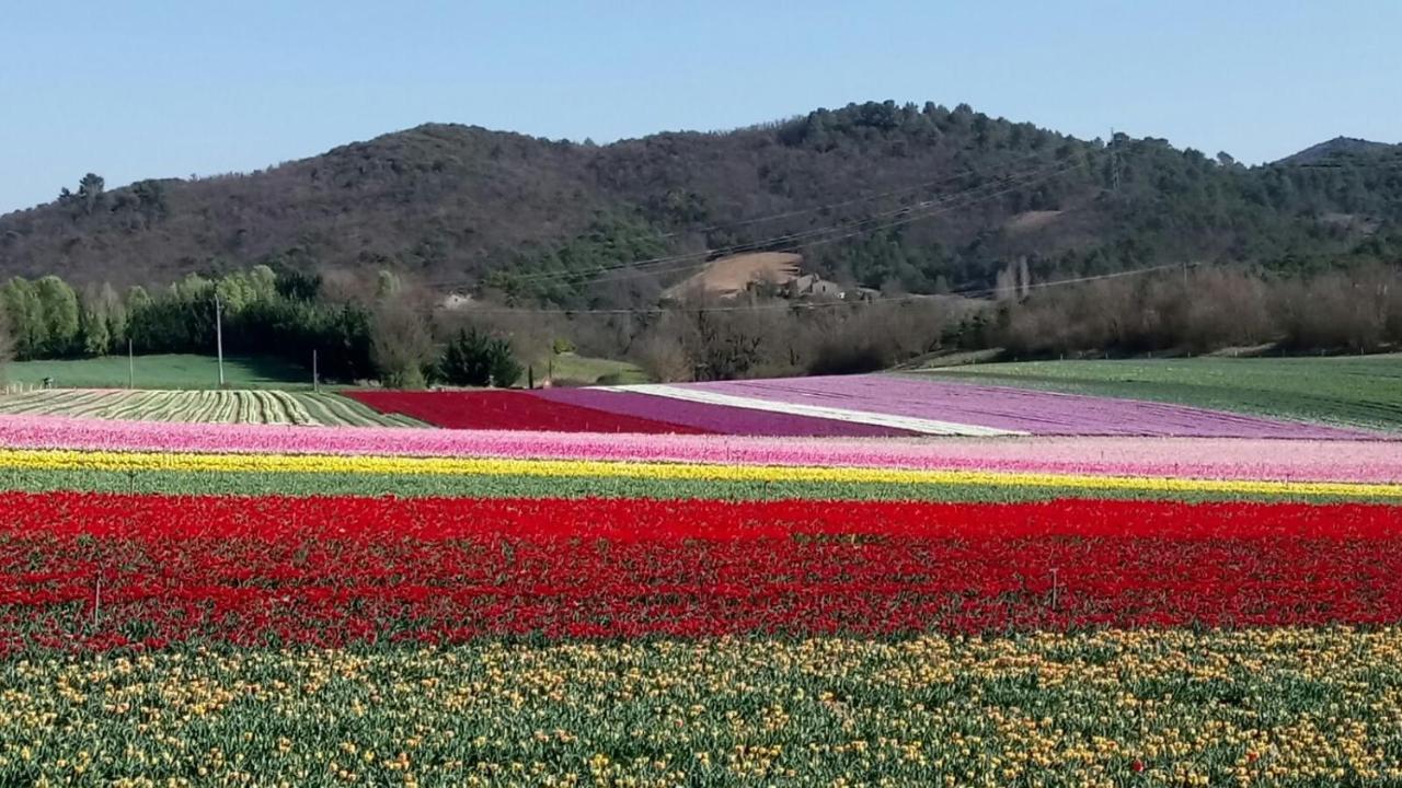
{"label": "green leafy trees and dark bushes on the left side", "polygon": [[13,278],[0,286],[0,320],[10,353],[20,359],[108,353],[210,353],[216,321],[224,352],[275,355],[334,380],[379,379],[422,387],[510,386],[519,377],[510,345],[463,332],[440,346],[425,303],[398,278],[380,272],[360,292],[332,294],[321,276],[266,265],[217,278],[189,275],[168,287],[109,285],[81,292],[57,276]]}

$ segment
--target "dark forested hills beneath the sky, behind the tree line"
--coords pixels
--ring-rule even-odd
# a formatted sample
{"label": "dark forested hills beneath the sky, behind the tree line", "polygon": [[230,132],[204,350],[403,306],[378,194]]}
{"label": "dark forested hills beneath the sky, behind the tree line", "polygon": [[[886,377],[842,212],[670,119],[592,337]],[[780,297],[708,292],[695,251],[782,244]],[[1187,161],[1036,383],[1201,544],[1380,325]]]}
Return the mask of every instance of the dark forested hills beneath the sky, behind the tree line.
{"label": "dark forested hills beneath the sky, behind the tree line", "polygon": [[[393,269],[576,307],[655,299],[708,250],[796,250],[829,278],[908,292],[987,286],[1023,257],[1036,279],[1396,261],[1402,149],[1343,147],[1326,165],[1248,168],[893,102],[607,146],[425,125],[244,175],[76,179],[0,217],[0,275],[121,286],[258,262]],[[670,255],[695,257],[618,271]]]}

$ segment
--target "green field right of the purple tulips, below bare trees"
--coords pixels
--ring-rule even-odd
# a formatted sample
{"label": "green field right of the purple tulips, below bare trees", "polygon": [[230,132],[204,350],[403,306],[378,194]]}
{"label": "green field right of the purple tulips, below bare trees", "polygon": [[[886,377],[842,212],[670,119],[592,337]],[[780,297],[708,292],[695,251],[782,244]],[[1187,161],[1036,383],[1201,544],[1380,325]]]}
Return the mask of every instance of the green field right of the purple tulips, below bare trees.
{"label": "green field right of the purple tulips, below bare trees", "polygon": [[1402,430],[1402,355],[1018,362],[913,374]]}

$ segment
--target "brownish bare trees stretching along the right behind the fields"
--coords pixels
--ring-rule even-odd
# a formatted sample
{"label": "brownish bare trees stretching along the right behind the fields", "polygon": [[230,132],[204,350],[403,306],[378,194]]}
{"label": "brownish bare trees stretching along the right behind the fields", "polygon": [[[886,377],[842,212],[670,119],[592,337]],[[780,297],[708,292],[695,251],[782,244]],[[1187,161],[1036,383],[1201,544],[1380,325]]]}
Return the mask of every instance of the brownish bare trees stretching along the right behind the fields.
{"label": "brownish bare trees stretching along the right behind the fields", "polygon": [[760,308],[700,299],[663,313],[520,310],[477,325],[509,334],[519,353],[569,337],[582,353],[631,359],[662,381],[858,373],[953,351],[1059,358],[1402,348],[1396,266],[1288,275],[1204,266],[1064,286],[1033,280],[1019,261],[997,275],[987,300],[788,303],[751,293]]}

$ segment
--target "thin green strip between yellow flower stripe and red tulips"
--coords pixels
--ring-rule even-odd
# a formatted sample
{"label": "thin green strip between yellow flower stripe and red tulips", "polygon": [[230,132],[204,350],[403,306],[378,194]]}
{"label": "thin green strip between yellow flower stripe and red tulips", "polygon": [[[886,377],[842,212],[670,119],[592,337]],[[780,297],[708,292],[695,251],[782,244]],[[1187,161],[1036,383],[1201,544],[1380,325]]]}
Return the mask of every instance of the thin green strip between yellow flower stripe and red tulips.
{"label": "thin green strip between yellow flower stripe and red tulips", "polygon": [[[524,475],[400,475],[400,474],[280,474],[191,471],[72,471],[4,470],[0,489],[32,492],[93,491],[165,495],[397,495],[460,498],[702,498],[718,501],[827,499],[827,501],[949,501],[1016,502],[1059,498],[1120,501],[1260,501],[1340,503],[1338,496],[1252,494],[1164,494],[1150,491],[1096,491],[1085,488],[903,485],[873,482],[726,482],[701,480],[637,480],[599,477]],[[1396,501],[1349,501],[1396,505]]]}

